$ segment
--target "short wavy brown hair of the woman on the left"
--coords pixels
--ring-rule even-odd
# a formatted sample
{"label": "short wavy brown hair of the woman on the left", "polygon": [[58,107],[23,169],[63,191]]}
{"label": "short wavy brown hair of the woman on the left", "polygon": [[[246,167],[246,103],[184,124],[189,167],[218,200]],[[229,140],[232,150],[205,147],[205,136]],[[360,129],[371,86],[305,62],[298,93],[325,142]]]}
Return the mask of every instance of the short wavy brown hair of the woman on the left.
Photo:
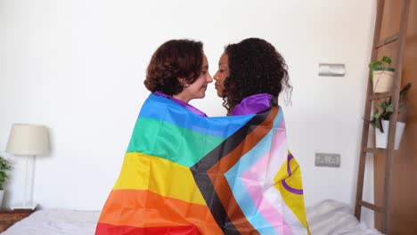
{"label": "short wavy brown hair of the woman on the left", "polygon": [[[200,76],[203,61],[201,42],[188,39],[170,40],[153,53],[143,84],[151,93],[181,93],[184,86]],[[184,78],[184,83],[178,81]]]}

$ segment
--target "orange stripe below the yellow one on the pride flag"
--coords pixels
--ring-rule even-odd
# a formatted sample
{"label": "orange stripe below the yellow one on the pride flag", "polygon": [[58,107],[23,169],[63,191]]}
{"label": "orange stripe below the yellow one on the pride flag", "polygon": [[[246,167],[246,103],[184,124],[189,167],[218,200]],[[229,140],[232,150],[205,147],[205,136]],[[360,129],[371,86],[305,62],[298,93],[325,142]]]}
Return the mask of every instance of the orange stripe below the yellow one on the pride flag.
{"label": "orange stripe below the yellow one on the pride flag", "polygon": [[195,225],[201,234],[223,234],[207,206],[149,190],[111,190],[99,223],[137,228]]}

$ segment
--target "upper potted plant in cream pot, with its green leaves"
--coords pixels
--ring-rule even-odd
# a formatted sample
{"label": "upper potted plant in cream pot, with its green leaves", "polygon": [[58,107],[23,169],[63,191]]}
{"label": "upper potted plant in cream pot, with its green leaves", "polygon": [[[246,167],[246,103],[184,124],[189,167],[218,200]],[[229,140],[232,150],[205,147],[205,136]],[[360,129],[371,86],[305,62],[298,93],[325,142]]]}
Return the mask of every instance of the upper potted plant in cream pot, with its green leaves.
{"label": "upper potted plant in cream pot, with its green leaves", "polygon": [[386,93],[391,90],[394,81],[395,69],[391,67],[391,58],[384,55],[380,61],[372,61],[369,64],[371,69],[371,80],[373,93]]}

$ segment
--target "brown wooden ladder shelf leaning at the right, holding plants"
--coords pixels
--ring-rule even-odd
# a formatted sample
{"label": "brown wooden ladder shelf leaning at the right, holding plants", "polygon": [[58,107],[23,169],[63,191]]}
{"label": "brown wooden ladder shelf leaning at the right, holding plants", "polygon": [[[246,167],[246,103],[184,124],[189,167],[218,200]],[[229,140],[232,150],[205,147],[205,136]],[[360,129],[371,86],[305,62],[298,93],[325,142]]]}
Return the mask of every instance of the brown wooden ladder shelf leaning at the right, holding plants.
{"label": "brown wooden ladder shelf leaning at the right, holding plants", "polygon": [[[398,1],[399,3],[399,1]],[[397,34],[388,36],[380,41],[380,31],[382,27],[382,15],[384,12],[385,0],[378,1],[377,15],[375,20],[375,29],[373,35],[373,46],[372,46],[372,61],[377,60],[378,49],[385,45],[389,45],[393,42],[397,42],[397,68],[394,72],[394,84],[392,89],[388,93],[373,93],[371,77],[368,77],[368,89],[366,93],[366,103],[364,108],[364,126],[362,129],[362,142],[361,150],[359,153],[359,169],[357,174],[357,185],[356,185],[356,205],[355,205],[355,216],[360,221],[361,219],[361,208],[367,207],[375,212],[382,213],[382,232],[388,234],[389,232],[389,190],[391,186],[391,174],[392,174],[392,158],[395,145],[395,133],[396,124],[398,117],[398,102],[399,92],[401,87],[401,77],[403,72],[403,54],[405,48],[405,33],[409,11],[409,0],[402,0],[402,9],[400,14],[400,29]],[[370,73],[371,76],[371,73]],[[366,155],[372,153],[374,155],[375,146],[368,148],[368,138],[370,129],[370,118],[372,101],[377,101],[383,98],[391,98],[391,103],[394,105],[394,112],[389,118],[388,128],[388,148],[385,150],[386,153],[386,164],[385,164],[385,175],[384,175],[384,192],[383,192],[383,205],[378,206],[363,200],[364,191],[364,170],[365,170],[365,159]]]}

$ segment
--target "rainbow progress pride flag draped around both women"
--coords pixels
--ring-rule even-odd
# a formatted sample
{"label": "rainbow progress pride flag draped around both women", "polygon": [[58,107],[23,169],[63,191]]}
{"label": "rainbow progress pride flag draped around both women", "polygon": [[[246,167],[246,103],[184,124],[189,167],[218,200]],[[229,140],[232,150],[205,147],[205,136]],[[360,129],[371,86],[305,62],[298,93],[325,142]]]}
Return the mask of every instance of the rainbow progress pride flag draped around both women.
{"label": "rainbow progress pride flag draped around both women", "polygon": [[279,107],[203,118],[151,94],[96,234],[308,234]]}

